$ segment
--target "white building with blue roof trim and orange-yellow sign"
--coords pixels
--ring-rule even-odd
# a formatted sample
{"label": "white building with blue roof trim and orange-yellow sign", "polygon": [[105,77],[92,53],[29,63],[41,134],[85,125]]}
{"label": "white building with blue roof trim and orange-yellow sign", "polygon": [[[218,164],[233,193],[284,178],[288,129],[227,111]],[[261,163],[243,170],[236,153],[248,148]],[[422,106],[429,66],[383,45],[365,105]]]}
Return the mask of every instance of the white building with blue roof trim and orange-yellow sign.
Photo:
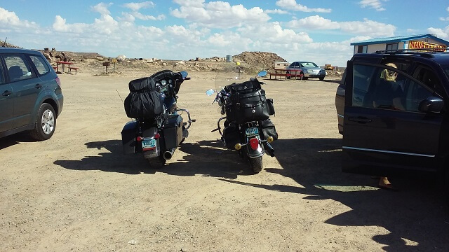
{"label": "white building with blue roof trim and orange-yellow sign", "polygon": [[437,38],[431,34],[396,36],[390,38],[373,38],[366,41],[351,43],[354,54],[370,53],[380,50],[422,49],[447,50],[449,41]]}

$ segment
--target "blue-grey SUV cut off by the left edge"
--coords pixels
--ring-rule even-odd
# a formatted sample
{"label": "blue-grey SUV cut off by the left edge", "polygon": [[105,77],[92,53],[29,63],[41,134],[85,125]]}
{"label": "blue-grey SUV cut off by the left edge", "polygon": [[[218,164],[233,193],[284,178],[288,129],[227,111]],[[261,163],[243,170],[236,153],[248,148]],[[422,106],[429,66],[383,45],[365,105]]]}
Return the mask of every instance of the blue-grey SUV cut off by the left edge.
{"label": "blue-grey SUV cut off by the left edge", "polygon": [[29,131],[53,136],[62,111],[60,79],[36,50],[0,48],[0,137]]}

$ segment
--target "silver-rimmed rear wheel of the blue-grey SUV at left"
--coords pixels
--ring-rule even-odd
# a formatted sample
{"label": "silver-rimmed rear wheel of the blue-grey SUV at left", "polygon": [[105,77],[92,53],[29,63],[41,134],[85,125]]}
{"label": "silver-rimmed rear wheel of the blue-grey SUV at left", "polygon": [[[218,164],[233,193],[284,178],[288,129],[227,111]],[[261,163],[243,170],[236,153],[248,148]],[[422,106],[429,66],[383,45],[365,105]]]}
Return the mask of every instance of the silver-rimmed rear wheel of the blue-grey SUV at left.
{"label": "silver-rimmed rear wheel of the blue-grey SUV at left", "polygon": [[42,141],[50,139],[55,132],[56,116],[55,109],[50,104],[44,103],[39,108],[34,123],[34,130],[31,132],[32,138]]}

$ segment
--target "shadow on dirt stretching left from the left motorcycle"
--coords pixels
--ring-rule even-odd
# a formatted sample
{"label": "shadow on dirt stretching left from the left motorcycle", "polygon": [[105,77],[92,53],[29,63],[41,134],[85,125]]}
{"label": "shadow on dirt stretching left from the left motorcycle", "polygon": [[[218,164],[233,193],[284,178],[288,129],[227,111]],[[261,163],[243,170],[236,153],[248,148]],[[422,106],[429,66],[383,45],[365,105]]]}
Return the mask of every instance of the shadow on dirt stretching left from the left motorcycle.
{"label": "shadow on dirt stretching left from the left motorcycle", "polygon": [[121,140],[94,141],[85,144],[87,148],[96,148],[99,151],[95,156],[86,156],[81,160],[56,160],[55,165],[66,169],[103,172],[121,172],[123,174],[153,173],[148,169],[147,160],[142,155],[124,155]]}

